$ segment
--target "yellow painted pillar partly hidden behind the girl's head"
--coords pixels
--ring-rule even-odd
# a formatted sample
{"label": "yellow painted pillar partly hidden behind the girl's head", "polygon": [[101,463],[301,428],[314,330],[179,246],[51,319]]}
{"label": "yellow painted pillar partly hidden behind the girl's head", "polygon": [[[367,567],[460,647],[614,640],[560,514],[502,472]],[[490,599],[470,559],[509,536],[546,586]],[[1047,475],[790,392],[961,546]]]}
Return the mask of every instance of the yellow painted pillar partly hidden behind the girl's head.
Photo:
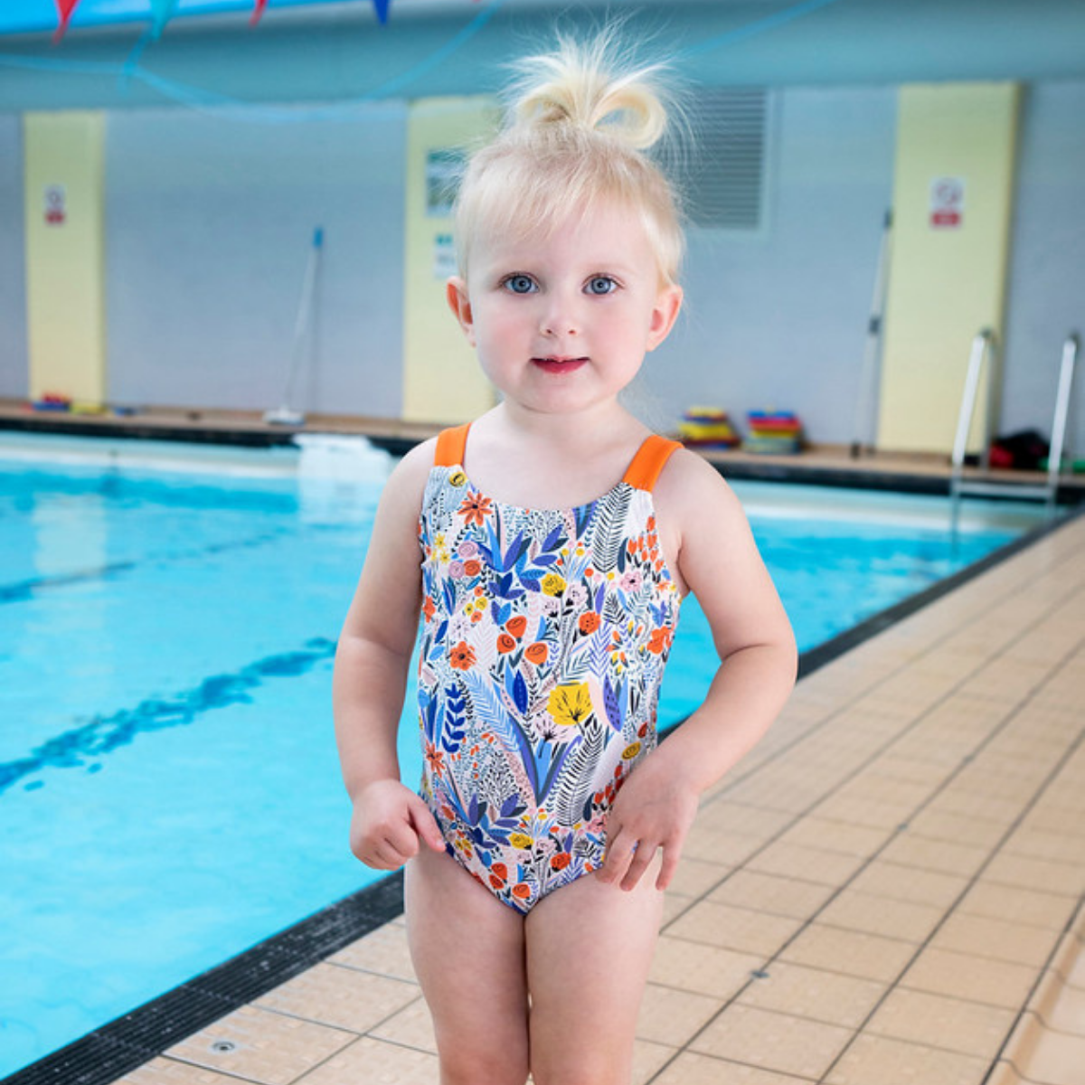
{"label": "yellow painted pillar partly hidden behind the girl's head", "polygon": [[411,421],[460,422],[494,405],[494,392],[445,302],[445,281],[456,273],[448,179],[462,149],[492,131],[496,122],[488,98],[427,99],[411,105],[403,408]]}

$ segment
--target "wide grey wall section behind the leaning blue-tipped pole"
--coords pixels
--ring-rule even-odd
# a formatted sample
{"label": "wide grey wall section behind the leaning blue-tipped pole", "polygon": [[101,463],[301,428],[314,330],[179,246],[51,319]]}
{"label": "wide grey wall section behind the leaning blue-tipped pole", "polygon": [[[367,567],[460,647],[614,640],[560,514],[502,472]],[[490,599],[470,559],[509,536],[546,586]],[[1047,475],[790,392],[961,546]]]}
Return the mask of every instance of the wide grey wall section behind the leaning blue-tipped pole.
{"label": "wide grey wall section behind the leaning blue-tipped pole", "polygon": [[405,117],[401,103],[276,124],[111,113],[111,401],[278,406],[322,226],[317,363],[291,406],[398,416]]}

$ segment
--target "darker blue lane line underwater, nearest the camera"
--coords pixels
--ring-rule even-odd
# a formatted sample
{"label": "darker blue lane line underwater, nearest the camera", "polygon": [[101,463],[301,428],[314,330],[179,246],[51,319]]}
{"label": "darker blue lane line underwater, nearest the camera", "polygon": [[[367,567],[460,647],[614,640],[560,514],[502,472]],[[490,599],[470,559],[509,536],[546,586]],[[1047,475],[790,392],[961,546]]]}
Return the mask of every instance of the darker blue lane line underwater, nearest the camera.
{"label": "darker blue lane line underwater, nearest the camera", "polygon": [[[335,641],[312,637],[305,648],[268,655],[233,674],[205,678],[193,689],[171,697],[148,698],[135,709],[122,709],[111,715],[93,716],[81,727],[74,727],[51,738],[29,756],[0,763],[0,795],[20,780],[49,768],[82,768],[97,773],[101,764],[87,766],[85,758],[101,757],[131,744],[137,736],[169,727],[186,727],[206,712],[231,704],[252,703],[252,691],[268,678],[296,678],[312,671],[335,654]],[[26,790],[44,787],[36,780]]]}

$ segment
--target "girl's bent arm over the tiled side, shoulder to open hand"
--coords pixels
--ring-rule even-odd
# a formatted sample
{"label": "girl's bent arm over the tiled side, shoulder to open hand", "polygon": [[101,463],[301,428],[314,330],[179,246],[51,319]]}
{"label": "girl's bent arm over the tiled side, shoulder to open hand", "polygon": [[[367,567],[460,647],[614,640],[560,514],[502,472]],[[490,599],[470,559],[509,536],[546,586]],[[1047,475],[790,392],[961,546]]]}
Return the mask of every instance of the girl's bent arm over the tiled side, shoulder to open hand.
{"label": "girl's bent arm over the tiled side, shoulder to open hand", "polygon": [[608,822],[603,881],[633,889],[663,850],[674,877],[700,795],[756,745],[795,681],[791,624],[738,498],[714,468],[679,450],[655,488],[661,532],[712,628],[719,667],[703,704],[629,775]]}

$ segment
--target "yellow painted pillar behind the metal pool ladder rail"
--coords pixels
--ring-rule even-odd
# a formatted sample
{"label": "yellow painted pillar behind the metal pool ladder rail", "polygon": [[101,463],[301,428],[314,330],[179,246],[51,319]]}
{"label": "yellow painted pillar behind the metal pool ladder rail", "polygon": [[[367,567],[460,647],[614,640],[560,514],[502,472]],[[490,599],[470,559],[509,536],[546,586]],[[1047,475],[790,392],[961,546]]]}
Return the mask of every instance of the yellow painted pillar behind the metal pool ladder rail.
{"label": "yellow painted pillar behind the metal pool ladder rail", "polygon": [[[1004,342],[1019,100],[1007,82],[899,90],[882,449],[948,452],[972,339],[992,328]],[[986,403],[981,387],[973,444]]]}

